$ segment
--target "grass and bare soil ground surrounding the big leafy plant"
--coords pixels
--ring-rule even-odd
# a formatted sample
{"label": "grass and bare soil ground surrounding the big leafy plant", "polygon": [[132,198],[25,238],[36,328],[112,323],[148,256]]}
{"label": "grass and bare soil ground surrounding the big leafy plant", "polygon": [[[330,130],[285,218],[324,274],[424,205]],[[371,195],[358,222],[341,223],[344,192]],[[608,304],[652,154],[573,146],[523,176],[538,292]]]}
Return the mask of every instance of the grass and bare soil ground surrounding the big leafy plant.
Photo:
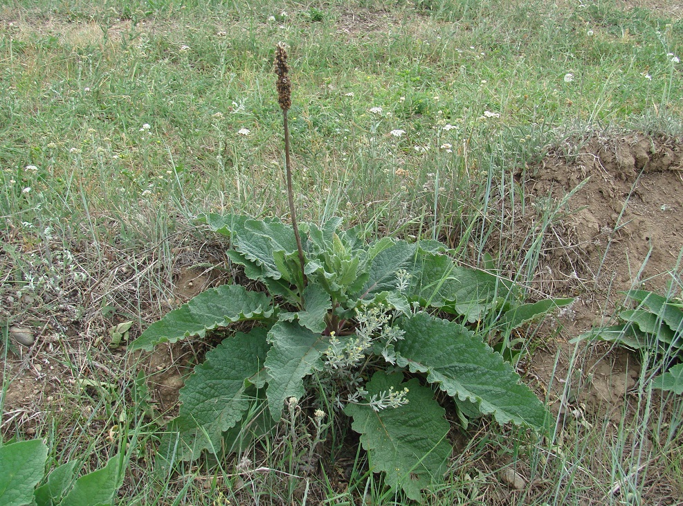
{"label": "grass and bare soil ground surrounding the big leafy plant", "polygon": [[[465,202],[474,208],[454,204],[452,213],[438,216],[444,220],[441,230],[448,231],[444,239],[452,246],[459,244],[467,228],[464,219],[459,222],[459,212],[473,216],[472,223],[485,214],[479,214],[477,207],[481,204],[477,199],[484,195],[480,181],[467,180],[486,179],[482,161],[494,158],[493,151],[486,151],[486,141],[502,144],[501,139],[509,138],[502,133],[508,127],[516,132],[513,127],[522,125],[518,137],[524,138],[527,132],[536,136],[543,130],[537,120],[551,126],[577,117],[595,120],[591,111],[600,108],[596,100],[601,99],[592,93],[603,89],[613,96],[604,101],[605,116],[592,125],[646,114],[650,105],[657,108],[667,89],[670,103],[659,104],[657,110],[668,108],[675,114],[681,110],[683,102],[676,93],[680,67],[673,66],[673,53],[668,54],[669,47],[671,51],[678,47],[676,37],[680,37],[683,11],[678,1],[625,0],[617,2],[619,12],[603,9],[600,3],[576,6],[576,2],[558,1],[555,11],[567,11],[558,18],[567,28],[560,35],[546,34],[547,39],[530,8],[520,10],[515,21],[508,21],[504,12],[489,23],[486,16],[491,9],[485,2],[464,2],[462,20],[453,23],[444,21],[439,12],[414,10],[412,3],[401,3],[401,8],[393,2],[373,5],[336,6],[330,10],[332,21],[325,24],[311,22],[312,10],[287,19],[279,6],[272,12],[265,8],[231,12],[235,19],[209,15],[209,21],[194,21],[194,25],[180,10],[176,15],[182,22],[144,12],[135,13],[136,21],[109,14],[97,19],[100,14],[90,6],[81,6],[89,12],[82,18],[56,4],[40,14],[28,7],[0,8],[0,35],[14,41],[9,50],[3,46],[3,54],[8,61],[11,56],[16,67],[6,73],[8,94],[1,105],[19,111],[12,109],[0,120],[33,120],[34,113],[46,117],[44,124],[27,120],[26,125],[8,128],[12,139],[1,146],[0,157],[11,161],[8,167],[14,164],[21,171],[34,163],[23,158],[24,152],[36,152],[40,170],[52,171],[49,177],[41,173],[42,179],[31,180],[33,192],[28,197],[38,193],[40,181],[48,181],[43,187],[46,194],[53,185],[55,201],[71,197],[69,171],[74,166],[81,170],[75,179],[82,184],[75,205],[64,197],[66,211],[55,206],[64,213],[61,218],[48,211],[44,211],[47,216],[31,215],[30,206],[19,198],[28,200],[22,193],[24,181],[19,180],[17,188],[10,188],[10,183],[6,187],[6,195],[19,195],[12,201],[12,212],[32,218],[22,223],[23,218],[1,217],[11,219],[7,227],[0,227],[0,323],[12,322],[4,361],[3,436],[57,435],[62,457],[85,452],[94,468],[113,451],[120,413],[138,413],[139,406],[149,403],[160,417],[159,424],[145,426],[146,446],[131,469],[135,479],[129,477],[124,493],[134,496],[139,492],[136,483],[151,482],[148,471],[158,443],[157,429],[176,413],[183,379],[215,343],[190,340],[160,346],[149,355],[129,356],[125,341],[113,346],[109,330],[134,319],[129,339],[135,338],[149,323],[203,289],[230,282],[235,273],[224,270],[226,243],[197,231],[188,223],[188,215],[198,209],[225,210],[235,202],[237,208],[255,212],[265,209],[278,214],[286,208],[278,186],[279,148],[268,144],[280,135],[279,123],[273,126],[272,119],[277,106],[274,99],[268,102],[270,91],[263,84],[271,84],[272,75],[269,69],[266,77],[262,75],[262,67],[270,66],[269,50],[264,47],[272,46],[271,39],[293,39],[300,55],[297,84],[304,88],[302,101],[310,102],[298,109],[299,120],[294,123],[295,139],[306,143],[295,154],[296,163],[313,168],[309,175],[299,174],[302,206],[314,214],[322,207],[320,195],[330,195],[339,183],[335,209],[351,215],[350,222],[372,218],[381,232],[415,236],[424,231],[423,222],[437,222],[436,211],[430,213],[437,208],[432,199],[437,199],[439,190],[448,205]],[[474,14],[468,10],[470,5],[476,7]],[[649,12],[666,17],[666,24]],[[277,21],[270,20],[271,13]],[[668,42],[657,39],[660,28],[671,37]],[[230,30],[237,35],[233,37]],[[529,37],[539,33],[531,47],[525,46]],[[457,42],[451,44],[451,37]],[[327,39],[338,44],[325,47]],[[548,40],[554,46],[548,47]],[[443,50],[437,51],[441,44]],[[34,64],[17,58],[15,49],[26,51],[21,54],[33,58]],[[552,63],[549,69],[536,73],[534,65],[531,70],[523,65],[536,53],[545,55],[544,63]],[[368,62],[365,56],[358,57],[366,54],[372,54]],[[421,54],[422,60],[413,60],[415,54]],[[225,55],[235,60],[226,63]],[[653,62],[653,55],[658,62]],[[389,60],[391,64],[385,64]],[[628,61],[628,75],[621,74]],[[60,62],[71,66],[62,69]],[[329,65],[318,68],[318,62]],[[606,80],[599,77],[603,62],[617,62],[613,71],[604,72],[609,75]],[[59,70],[52,75],[51,69]],[[574,75],[574,80],[563,80],[565,73]],[[502,78],[496,82],[499,74]],[[186,93],[185,75],[201,89],[196,97]],[[405,82],[397,82],[397,75]],[[214,86],[217,91],[213,89],[212,96]],[[432,89],[435,86],[439,88]],[[97,93],[91,93],[91,88]],[[173,101],[179,104],[175,108]],[[385,107],[384,116],[368,112],[378,104]],[[46,105],[54,107],[54,118]],[[537,117],[539,105],[545,109]],[[93,110],[98,114],[93,116]],[[69,132],[73,138],[62,139],[62,124],[73,127]],[[188,125],[197,129],[193,132]],[[251,129],[251,136],[237,134],[242,127]],[[394,128],[405,130],[395,137],[390,134]],[[34,130],[38,133],[31,138]],[[574,305],[556,311],[543,323],[529,325],[518,336],[528,343],[524,346],[529,351],[519,364],[520,374],[549,400],[558,418],[556,446],[537,442],[527,446],[540,449],[535,455],[542,463],[519,459],[516,469],[526,480],[525,487],[517,489],[498,472],[513,461],[513,455],[524,453],[518,442],[522,437],[509,427],[492,427],[487,420],[467,433],[453,431],[462,450],[454,456],[453,466],[460,473],[455,481],[461,480],[457,486],[469,494],[472,504],[541,505],[550,494],[553,504],[638,504],[639,499],[629,499],[626,492],[619,495],[631,479],[632,489],[642,493],[641,504],[682,504],[680,428],[679,435],[671,438],[675,444],[666,446],[659,440],[677,426],[661,397],[644,401],[641,386],[646,369],[639,354],[605,343],[570,341],[596,325],[611,323],[623,305],[623,291],[680,293],[683,139],[637,126],[577,131],[548,136],[549,146],[542,141],[533,144],[534,137],[528,150],[515,137],[516,147],[505,154],[516,157],[527,150],[529,163],[517,164],[515,158],[489,173],[511,177],[507,191],[516,188],[517,197],[496,195],[495,188],[490,195],[486,192],[486,198],[495,202],[491,208],[502,209],[491,219],[500,226],[493,226],[486,240],[475,235],[466,238],[466,253],[479,248],[476,255],[482,251],[493,255],[505,275],[528,289],[531,299],[575,298]],[[358,158],[353,158],[356,151]],[[180,161],[169,165],[167,156]],[[208,188],[197,193],[192,203],[196,208],[182,209],[185,215],[178,204],[187,205],[185,195],[174,194],[173,184],[164,186],[171,179],[172,171],[167,169],[176,170],[183,163],[185,174],[191,174],[183,184],[192,190],[201,183]],[[365,175],[347,179],[354,171]],[[441,181],[445,189],[435,185],[435,173],[450,178]],[[15,177],[15,172],[7,174],[3,181]],[[457,179],[458,174],[462,179]],[[257,195],[256,189],[262,193]],[[95,199],[100,192],[107,198]],[[118,198],[124,204],[110,194],[122,195]],[[93,202],[86,203],[90,198]],[[32,205],[40,209],[35,202]],[[82,214],[71,228],[73,209]],[[467,260],[475,264],[476,255]],[[17,343],[15,337],[27,338],[28,344]],[[140,370],[149,397],[135,384]],[[95,441],[93,447],[87,446],[88,440]],[[343,458],[329,463],[329,480],[339,494],[349,485],[357,443],[349,441]],[[267,462],[267,452],[257,456]],[[199,468],[188,472],[199,477],[197,482],[203,480],[207,490],[214,487],[211,474]],[[174,477],[163,485],[169,497],[158,503],[176,504],[183,479]],[[268,482],[262,485],[269,493]],[[312,485],[309,503],[315,502],[316,494],[322,497],[322,489],[320,484]],[[215,504],[222,504],[218,495],[213,497]],[[251,500],[246,492],[244,498]]]}

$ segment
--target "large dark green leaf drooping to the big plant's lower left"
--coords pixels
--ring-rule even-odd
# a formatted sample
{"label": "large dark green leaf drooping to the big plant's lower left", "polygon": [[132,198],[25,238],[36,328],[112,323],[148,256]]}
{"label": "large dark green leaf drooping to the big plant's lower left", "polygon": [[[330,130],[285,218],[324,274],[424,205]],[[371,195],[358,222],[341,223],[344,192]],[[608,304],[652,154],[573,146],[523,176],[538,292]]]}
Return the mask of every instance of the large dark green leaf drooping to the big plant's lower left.
{"label": "large dark green leaf drooping to the big plant's lower left", "polygon": [[180,433],[179,458],[194,460],[201,451],[221,450],[225,431],[242,420],[253,400],[246,391],[266,382],[265,329],[237,332],[206,354],[180,392],[180,413],[170,432]]}

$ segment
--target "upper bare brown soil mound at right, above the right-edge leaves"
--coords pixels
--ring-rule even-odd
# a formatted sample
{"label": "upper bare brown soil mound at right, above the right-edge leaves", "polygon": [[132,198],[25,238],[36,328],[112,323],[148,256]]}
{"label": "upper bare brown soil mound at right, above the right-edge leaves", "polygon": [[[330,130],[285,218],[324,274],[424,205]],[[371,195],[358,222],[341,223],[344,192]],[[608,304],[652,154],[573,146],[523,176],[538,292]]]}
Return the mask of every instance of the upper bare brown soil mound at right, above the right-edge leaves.
{"label": "upper bare brown soil mound at right, above the right-edge leaves", "polygon": [[[599,309],[593,302],[619,300],[619,290],[665,290],[680,270],[682,139],[635,133],[570,139],[525,184],[530,198],[522,229],[547,223],[536,269],[543,293],[578,296],[579,305]],[[600,307],[599,314],[610,309]],[[582,330],[595,319],[595,311],[586,312],[577,315]]]}

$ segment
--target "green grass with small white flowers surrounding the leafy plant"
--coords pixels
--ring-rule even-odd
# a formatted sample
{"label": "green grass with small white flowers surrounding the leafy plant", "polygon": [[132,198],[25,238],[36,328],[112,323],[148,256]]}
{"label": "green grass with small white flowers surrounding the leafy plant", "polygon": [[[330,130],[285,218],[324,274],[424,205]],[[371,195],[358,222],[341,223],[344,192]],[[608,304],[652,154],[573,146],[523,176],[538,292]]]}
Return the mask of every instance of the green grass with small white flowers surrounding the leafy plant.
{"label": "green grass with small white flowers surrounding the leafy plant", "polygon": [[[122,503],[302,503],[298,487],[309,483],[278,471],[240,475],[233,462],[160,471],[161,420],[140,422],[129,393],[143,361],[106,347],[111,325],[134,320],[140,332],[174,307],[181,267],[224,260],[195,228],[199,213],[287,216],[271,72],[280,41],[290,46],[302,219],[340,215],[366,224],[370,236],[439,238],[468,264],[509,250],[508,217],[527,199],[518,174],[551,143],[607,127],[683,132],[683,64],[672,61],[683,57],[683,20],[614,1],[5,2],[0,322],[57,336],[51,347],[39,340],[31,360],[55,361],[73,383],[55,393],[65,413],[3,415],[1,428],[6,438],[28,437],[25,427],[35,426],[60,456],[93,455],[95,469],[125,413],[140,451]],[[541,222],[558,208],[539,210]],[[513,275],[529,282],[543,240],[543,230],[534,233],[524,255],[495,266],[516,264]],[[583,358],[568,360],[580,368]],[[3,385],[21,374],[6,360]],[[84,388],[82,377],[118,388]],[[616,435],[601,420],[591,428],[575,421],[543,442],[484,425],[455,455],[452,485],[430,503],[495,503],[504,487],[496,473],[510,459],[538,478],[500,499],[511,504],[622,504],[635,496],[610,493],[615,480],[628,493],[651,493],[650,467],[680,487],[680,403],[645,398]],[[673,415],[660,407],[671,405]],[[634,433],[651,449],[638,449]],[[271,460],[251,450],[255,466],[286,470],[302,451],[275,436],[271,444]],[[363,456],[352,457],[352,492],[332,485],[330,463],[327,485],[309,483],[309,502],[394,501]],[[214,473],[232,491],[207,486]],[[263,497],[270,490],[279,499]]]}

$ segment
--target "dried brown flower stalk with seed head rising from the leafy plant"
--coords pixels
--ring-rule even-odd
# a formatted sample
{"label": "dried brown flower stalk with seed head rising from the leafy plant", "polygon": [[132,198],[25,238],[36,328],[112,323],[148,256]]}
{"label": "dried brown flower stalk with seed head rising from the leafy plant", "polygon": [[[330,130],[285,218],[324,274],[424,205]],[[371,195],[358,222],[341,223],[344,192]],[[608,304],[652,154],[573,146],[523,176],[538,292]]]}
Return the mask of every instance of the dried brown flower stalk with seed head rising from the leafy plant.
{"label": "dried brown flower stalk with seed head rising from the leafy plant", "polygon": [[301,264],[301,275],[304,287],[307,284],[306,273],[304,271],[304,249],[301,246],[301,236],[299,227],[296,223],[296,209],[294,208],[294,190],[292,186],[292,168],[289,156],[289,121],[287,111],[292,106],[292,87],[289,80],[289,65],[287,65],[287,50],[284,42],[277,44],[275,49],[275,74],[277,75],[277,102],[280,102],[282,109],[282,127],[284,129],[284,167],[287,175],[287,201],[289,201],[289,214],[291,215],[292,228],[296,247],[299,251],[299,262]]}

